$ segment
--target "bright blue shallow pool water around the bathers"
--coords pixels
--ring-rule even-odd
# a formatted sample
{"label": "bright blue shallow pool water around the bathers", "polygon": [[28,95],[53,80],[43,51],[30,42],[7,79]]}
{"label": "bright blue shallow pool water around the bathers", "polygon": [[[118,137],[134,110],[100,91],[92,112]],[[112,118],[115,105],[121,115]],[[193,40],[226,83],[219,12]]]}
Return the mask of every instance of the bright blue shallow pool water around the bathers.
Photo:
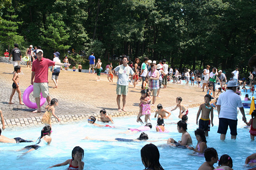
{"label": "bright blue shallow pool water around the bathers", "polygon": [[[196,125],[196,113],[198,108],[189,109],[188,113],[188,132],[190,133],[193,146],[196,147],[196,137],[194,130]],[[245,110],[248,113],[249,109]],[[211,127],[209,137],[207,137],[207,146],[217,150],[219,158],[223,154],[228,154],[233,159],[233,169],[245,170],[249,169],[244,166],[245,158],[255,153],[256,143],[250,140],[249,129],[245,129],[245,123],[242,122],[241,113],[238,115],[237,140],[230,139],[230,130],[228,130],[225,141],[220,141],[218,129],[218,113],[214,111],[214,126]],[[247,120],[251,118],[246,115]],[[62,163],[67,159],[71,159],[71,152],[75,146],[84,149],[85,163],[84,170],[143,170],[144,166],[140,158],[140,149],[150,142],[106,142],[98,140],[82,140],[88,136],[97,139],[114,139],[117,137],[136,139],[140,133],[136,134],[119,134],[127,128],[136,128],[140,124],[136,122],[136,116],[113,118],[116,127],[123,129],[115,129],[109,127],[96,127],[85,122],[75,122],[68,125],[53,125],[52,143],[36,151],[30,152],[19,158],[22,152],[16,152],[30,143],[20,144],[3,144],[0,143],[0,160],[1,167],[8,170],[45,170],[47,167]],[[181,133],[177,132],[176,124],[178,122],[178,111],[173,111],[170,119],[166,120],[166,129],[169,133],[157,133],[155,131],[156,118],[151,114],[151,123],[153,128],[146,132],[149,140],[162,140],[173,137],[180,140]],[[6,129],[2,135],[14,138],[22,137],[24,139],[36,140],[41,133],[42,127]],[[193,152],[188,149],[173,148],[166,145],[166,141],[152,142],[158,146],[160,152],[160,163],[165,170],[197,170],[205,161],[204,157],[192,156]],[[217,166],[217,163],[214,165]],[[53,167],[53,170],[64,170],[68,166]],[[0,168],[2,169],[2,168]]]}

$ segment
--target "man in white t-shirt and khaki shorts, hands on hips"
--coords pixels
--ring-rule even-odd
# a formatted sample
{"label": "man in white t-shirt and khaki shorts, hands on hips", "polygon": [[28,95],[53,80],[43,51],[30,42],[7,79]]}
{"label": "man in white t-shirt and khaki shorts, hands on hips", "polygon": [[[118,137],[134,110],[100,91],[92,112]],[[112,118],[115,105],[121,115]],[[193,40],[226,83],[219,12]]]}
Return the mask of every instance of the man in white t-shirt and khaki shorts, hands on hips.
{"label": "man in white t-shirt and khaki shorts, hands on hips", "polygon": [[[128,85],[129,85],[129,76],[132,77],[135,75],[134,71],[127,64],[129,62],[129,57],[126,55],[122,56],[123,64],[117,66],[112,72],[115,76],[117,76],[117,106],[118,111],[126,111],[124,109],[126,103],[126,95],[128,93]],[[118,75],[116,74],[118,72]],[[120,98],[121,95],[123,97],[123,108],[120,107]]]}

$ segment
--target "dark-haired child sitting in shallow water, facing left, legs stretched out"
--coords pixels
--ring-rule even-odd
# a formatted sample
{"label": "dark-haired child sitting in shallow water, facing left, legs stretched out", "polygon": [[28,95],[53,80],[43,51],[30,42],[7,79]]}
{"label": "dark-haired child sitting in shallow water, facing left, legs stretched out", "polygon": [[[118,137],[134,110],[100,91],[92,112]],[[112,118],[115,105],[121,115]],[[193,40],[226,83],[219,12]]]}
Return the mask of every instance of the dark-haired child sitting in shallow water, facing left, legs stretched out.
{"label": "dark-haired child sitting in shallow water, facing left, legs stretched out", "polygon": [[181,147],[181,148],[186,148],[186,145],[192,145],[192,138],[190,136],[190,134],[187,132],[187,123],[184,122],[183,120],[180,120],[177,123],[177,130],[179,133],[182,133],[181,135],[181,140],[179,140],[178,142],[176,140],[174,140],[173,138],[169,138],[167,140],[167,144],[171,145],[171,146],[176,146],[176,147]]}

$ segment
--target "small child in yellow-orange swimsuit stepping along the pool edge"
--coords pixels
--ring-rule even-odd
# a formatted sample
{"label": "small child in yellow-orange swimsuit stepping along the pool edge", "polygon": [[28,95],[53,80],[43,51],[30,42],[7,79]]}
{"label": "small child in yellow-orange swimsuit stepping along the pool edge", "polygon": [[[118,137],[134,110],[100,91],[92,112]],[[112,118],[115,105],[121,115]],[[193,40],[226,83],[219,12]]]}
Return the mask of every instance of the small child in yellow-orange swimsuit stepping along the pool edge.
{"label": "small child in yellow-orange swimsuit stepping along the pool edge", "polygon": [[59,105],[59,101],[57,99],[52,99],[50,106],[46,106],[45,114],[43,115],[41,122],[45,124],[45,126],[50,126],[52,128],[51,124],[51,117],[54,116],[58,122],[60,122],[60,119],[55,115],[55,107]]}

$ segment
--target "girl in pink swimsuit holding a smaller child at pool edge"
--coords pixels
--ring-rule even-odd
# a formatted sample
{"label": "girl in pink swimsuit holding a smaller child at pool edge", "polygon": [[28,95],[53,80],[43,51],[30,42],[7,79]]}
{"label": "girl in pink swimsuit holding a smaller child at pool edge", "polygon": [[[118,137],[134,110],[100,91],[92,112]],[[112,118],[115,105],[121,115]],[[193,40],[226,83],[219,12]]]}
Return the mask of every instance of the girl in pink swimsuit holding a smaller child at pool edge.
{"label": "girl in pink swimsuit holding a smaller child at pool edge", "polygon": [[151,107],[150,107],[151,96],[148,90],[141,90],[140,93],[141,93],[141,97],[139,99],[140,103],[139,103],[139,114],[137,116],[137,122],[143,123],[140,117],[145,115],[145,122],[147,123],[147,120],[151,115]]}

